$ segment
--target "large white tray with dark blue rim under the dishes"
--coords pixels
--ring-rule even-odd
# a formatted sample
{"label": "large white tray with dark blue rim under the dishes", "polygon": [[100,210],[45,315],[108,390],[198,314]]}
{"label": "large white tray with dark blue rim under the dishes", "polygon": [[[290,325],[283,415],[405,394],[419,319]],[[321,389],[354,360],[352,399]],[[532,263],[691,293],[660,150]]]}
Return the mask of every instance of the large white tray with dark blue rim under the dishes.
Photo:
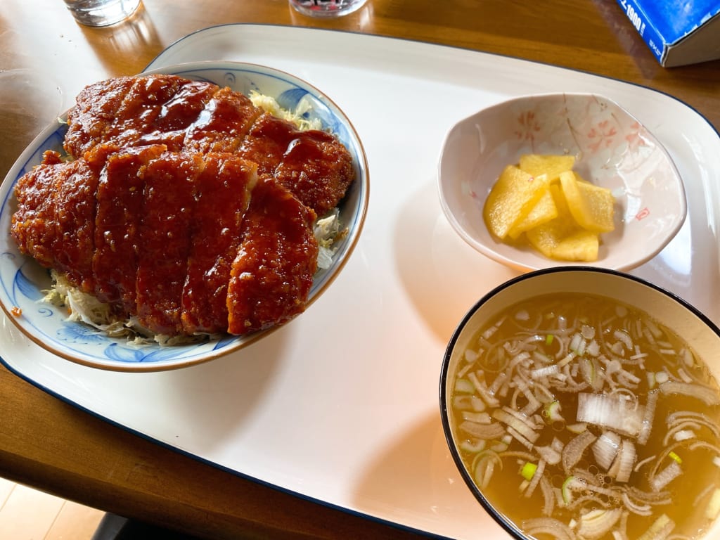
{"label": "large white tray with dark blue rim under the dishes", "polygon": [[451,230],[438,202],[436,167],[457,120],[503,99],[551,91],[604,94],[667,146],[685,181],[688,220],[633,274],[720,322],[720,138],[672,96],[470,50],[250,24],[190,35],[150,67],[220,59],[305,78],[354,122],[371,189],[350,261],[292,323],[235,354],[176,372],[71,364],[0,315],[0,355],[19,376],[100,418],[282,490],[428,534],[507,539],[456,472],[438,383],[456,323],[516,272]]}

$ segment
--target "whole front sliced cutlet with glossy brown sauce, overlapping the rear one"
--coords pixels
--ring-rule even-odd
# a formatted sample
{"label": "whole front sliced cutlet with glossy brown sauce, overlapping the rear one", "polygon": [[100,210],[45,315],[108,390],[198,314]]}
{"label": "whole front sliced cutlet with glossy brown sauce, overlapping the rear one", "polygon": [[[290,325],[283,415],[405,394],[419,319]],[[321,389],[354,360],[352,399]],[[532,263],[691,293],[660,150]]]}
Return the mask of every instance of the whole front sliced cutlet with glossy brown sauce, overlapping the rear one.
{"label": "whole front sliced cutlet with glossy brown sauce, overlapping the rear one", "polygon": [[[19,179],[11,234],[149,333],[250,333],[305,309],[315,212],[232,153],[101,145]],[[86,159],[87,158],[87,159]],[[90,161],[88,161],[90,160]]]}

